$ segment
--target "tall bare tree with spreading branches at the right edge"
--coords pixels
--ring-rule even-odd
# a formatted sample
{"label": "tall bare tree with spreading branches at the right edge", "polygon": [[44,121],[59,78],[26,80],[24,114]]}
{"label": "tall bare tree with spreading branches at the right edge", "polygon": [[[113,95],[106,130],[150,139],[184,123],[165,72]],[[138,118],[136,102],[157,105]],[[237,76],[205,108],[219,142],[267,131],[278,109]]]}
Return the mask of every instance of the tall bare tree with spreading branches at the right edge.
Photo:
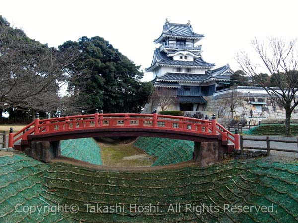
{"label": "tall bare tree with spreading branches at the right edge", "polygon": [[[290,119],[294,108],[298,105],[298,47],[297,39],[285,41],[281,38],[269,38],[259,41],[255,38],[252,42],[253,49],[260,60],[251,61],[250,56],[244,51],[239,52],[237,61],[241,68],[252,80],[262,86],[273,101],[283,106],[286,112],[286,135],[291,135]],[[264,78],[261,78],[259,69],[266,68],[274,80],[275,87],[269,87]]]}

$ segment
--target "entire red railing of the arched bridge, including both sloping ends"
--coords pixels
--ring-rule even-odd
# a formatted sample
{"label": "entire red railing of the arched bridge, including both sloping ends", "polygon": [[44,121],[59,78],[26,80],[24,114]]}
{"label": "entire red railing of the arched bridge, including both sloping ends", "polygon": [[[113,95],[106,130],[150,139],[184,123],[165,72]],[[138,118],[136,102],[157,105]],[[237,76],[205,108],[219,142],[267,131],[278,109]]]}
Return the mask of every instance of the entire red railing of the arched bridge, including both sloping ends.
{"label": "entire red railing of the arched bridge, including both sloping ends", "polygon": [[170,129],[183,132],[193,132],[205,135],[222,135],[222,140],[229,140],[239,148],[238,134],[233,134],[213,119],[196,119],[189,117],[179,117],[170,115],[153,114],[95,114],[75,115],[58,118],[47,118],[40,120],[38,113],[35,120],[18,131],[9,134],[9,146],[19,140],[27,140],[30,134],[48,134],[53,132],[72,131],[92,128],[157,128]]}

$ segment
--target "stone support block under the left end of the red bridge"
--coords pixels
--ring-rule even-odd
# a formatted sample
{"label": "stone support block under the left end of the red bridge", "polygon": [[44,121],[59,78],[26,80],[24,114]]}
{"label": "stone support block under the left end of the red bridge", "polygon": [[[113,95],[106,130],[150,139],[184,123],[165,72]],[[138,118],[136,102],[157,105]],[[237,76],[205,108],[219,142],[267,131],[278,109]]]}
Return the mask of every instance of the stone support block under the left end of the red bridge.
{"label": "stone support block under the left end of the red bridge", "polygon": [[25,153],[34,159],[50,163],[52,159],[60,156],[60,141],[56,142],[31,142],[30,148],[25,150]]}

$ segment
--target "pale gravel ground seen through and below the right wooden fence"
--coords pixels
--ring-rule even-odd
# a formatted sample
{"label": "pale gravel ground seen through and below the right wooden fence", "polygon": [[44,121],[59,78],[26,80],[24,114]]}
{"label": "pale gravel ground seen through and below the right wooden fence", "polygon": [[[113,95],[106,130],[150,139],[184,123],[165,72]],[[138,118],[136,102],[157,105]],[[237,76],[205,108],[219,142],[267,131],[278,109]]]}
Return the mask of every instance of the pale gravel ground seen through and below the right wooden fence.
{"label": "pale gravel ground seen through and below the right wooden fence", "polygon": [[[285,136],[269,136],[269,137],[270,139],[297,141],[297,137],[285,137]],[[244,138],[244,146],[266,148],[266,142],[245,140],[245,138],[266,139],[266,136],[246,135],[246,136],[243,136],[243,138]],[[288,149],[288,150],[297,151],[297,143],[270,142],[270,147],[277,148],[277,149]],[[298,158],[298,153],[273,151],[273,150],[270,151],[270,156],[268,157],[268,159],[281,161],[281,162],[294,161],[294,160],[297,160],[297,158]]]}

